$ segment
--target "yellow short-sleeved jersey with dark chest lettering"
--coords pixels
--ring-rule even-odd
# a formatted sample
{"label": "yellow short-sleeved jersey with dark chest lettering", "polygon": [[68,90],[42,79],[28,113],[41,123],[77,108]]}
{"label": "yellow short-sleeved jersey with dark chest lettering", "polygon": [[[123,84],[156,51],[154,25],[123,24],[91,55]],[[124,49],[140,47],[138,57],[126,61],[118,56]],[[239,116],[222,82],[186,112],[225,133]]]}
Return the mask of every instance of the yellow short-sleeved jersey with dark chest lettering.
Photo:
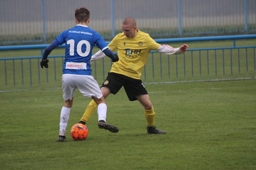
{"label": "yellow short-sleeved jersey with dark chest lettering", "polygon": [[110,72],[140,79],[149,52],[157,51],[160,46],[161,44],[156,43],[149,34],[139,29],[134,38],[127,38],[124,33],[116,35],[108,47],[111,51],[117,49],[119,61],[112,65]]}

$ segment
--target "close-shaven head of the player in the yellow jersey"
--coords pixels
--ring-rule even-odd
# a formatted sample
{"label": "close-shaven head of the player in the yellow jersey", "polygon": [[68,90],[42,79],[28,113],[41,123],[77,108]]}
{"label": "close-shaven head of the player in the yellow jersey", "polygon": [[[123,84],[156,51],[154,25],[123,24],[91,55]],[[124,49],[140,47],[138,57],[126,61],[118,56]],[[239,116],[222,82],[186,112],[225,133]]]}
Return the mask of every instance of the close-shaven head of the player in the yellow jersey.
{"label": "close-shaven head of the player in the yellow jersey", "polygon": [[122,30],[127,38],[133,38],[136,36],[136,21],[133,18],[125,18],[122,23]]}

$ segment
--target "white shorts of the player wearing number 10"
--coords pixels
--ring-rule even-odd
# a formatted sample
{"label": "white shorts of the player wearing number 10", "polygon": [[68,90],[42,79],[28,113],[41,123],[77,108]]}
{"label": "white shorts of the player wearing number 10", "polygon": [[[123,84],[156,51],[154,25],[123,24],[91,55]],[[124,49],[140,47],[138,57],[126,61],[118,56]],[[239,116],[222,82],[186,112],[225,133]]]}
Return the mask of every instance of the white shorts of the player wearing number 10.
{"label": "white shorts of the player wearing number 10", "polygon": [[103,95],[100,91],[99,84],[91,75],[62,75],[62,92],[64,100],[72,99],[74,97],[75,89],[85,96],[91,98],[101,98]]}

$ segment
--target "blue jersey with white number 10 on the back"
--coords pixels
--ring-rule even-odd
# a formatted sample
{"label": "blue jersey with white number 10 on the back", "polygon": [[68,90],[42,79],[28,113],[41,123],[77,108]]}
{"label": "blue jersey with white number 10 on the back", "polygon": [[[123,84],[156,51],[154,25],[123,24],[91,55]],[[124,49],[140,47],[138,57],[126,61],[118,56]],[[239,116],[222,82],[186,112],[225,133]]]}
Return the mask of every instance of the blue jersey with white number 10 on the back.
{"label": "blue jersey with white number 10 on the back", "polygon": [[91,75],[90,60],[94,45],[102,51],[107,48],[98,32],[83,25],[62,32],[56,40],[60,45],[66,43],[63,74]]}

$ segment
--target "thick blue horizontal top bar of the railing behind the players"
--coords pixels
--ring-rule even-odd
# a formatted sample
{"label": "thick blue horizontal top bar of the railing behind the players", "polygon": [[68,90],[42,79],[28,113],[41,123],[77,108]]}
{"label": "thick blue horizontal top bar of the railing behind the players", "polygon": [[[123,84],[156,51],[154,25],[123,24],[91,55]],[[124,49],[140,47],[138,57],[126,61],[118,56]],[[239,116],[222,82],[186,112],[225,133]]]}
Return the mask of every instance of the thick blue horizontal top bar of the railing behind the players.
{"label": "thick blue horizontal top bar of the railing behind the players", "polygon": [[[235,36],[204,36],[204,37],[188,37],[188,38],[171,38],[171,39],[155,39],[157,43],[177,43],[177,42],[192,42],[192,41],[216,41],[216,40],[241,40],[241,39],[256,39],[256,34],[251,35],[235,35]],[[110,43],[110,41],[106,41]],[[49,44],[38,45],[15,45],[15,46],[1,46],[0,51],[4,50],[25,50],[25,49],[41,49],[48,47]],[[58,47],[65,47],[62,44]]]}

